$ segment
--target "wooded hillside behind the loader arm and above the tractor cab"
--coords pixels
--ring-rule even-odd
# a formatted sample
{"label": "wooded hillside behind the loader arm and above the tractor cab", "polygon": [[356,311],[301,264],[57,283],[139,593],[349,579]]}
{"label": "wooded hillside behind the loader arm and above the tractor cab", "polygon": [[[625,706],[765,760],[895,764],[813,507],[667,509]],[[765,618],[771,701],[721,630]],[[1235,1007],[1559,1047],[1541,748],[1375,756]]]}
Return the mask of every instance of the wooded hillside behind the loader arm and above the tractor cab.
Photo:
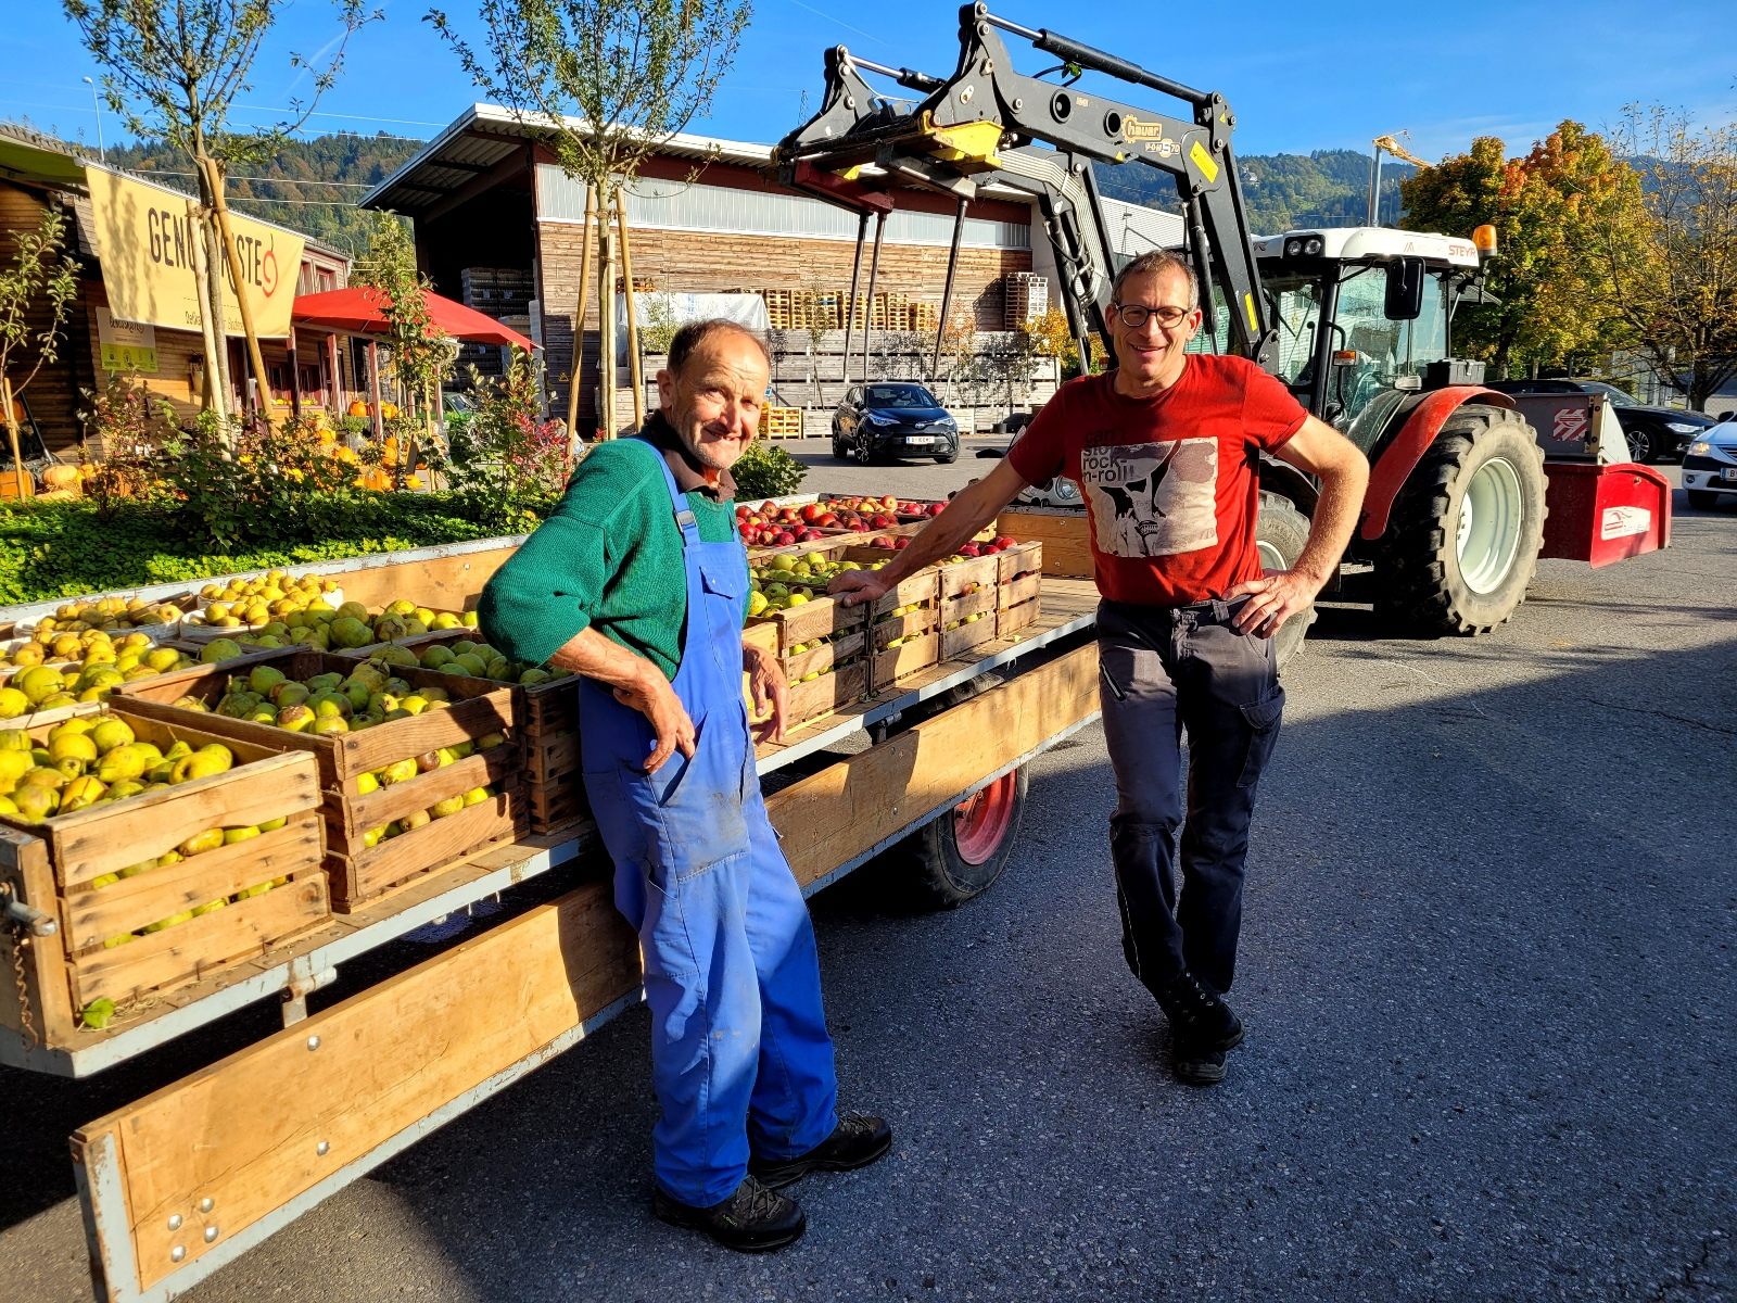
{"label": "wooded hillside behind the loader arm and above the tractor cab", "polygon": [[[1310,155],[1244,155],[1242,196],[1254,235],[1304,226],[1362,226],[1369,217],[1369,155],[1355,149],[1315,149]],[[1400,212],[1400,181],[1417,169],[1381,160],[1381,221]],[[1150,167],[1098,167],[1105,195],[1133,203],[1176,208],[1176,182]]]}

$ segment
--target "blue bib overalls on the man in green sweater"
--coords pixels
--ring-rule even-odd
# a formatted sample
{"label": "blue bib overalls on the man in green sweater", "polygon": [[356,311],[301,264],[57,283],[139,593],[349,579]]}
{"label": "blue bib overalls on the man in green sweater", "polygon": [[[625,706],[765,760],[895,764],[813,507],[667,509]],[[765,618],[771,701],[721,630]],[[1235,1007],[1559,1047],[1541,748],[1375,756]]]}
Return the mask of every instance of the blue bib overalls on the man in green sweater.
{"label": "blue bib overalls on the man in green sweater", "polygon": [[615,860],[615,903],[639,933],[651,1009],[658,1185],[707,1207],[763,1159],[806,1154],[837,1124],[832,1039],[808,905],[766,818],[747,707],[740,542],[702,542],[655,448],[681,526],[688,622],[676,697],[695,730],[648,775],[650,721],[580,681],[585,794]]}

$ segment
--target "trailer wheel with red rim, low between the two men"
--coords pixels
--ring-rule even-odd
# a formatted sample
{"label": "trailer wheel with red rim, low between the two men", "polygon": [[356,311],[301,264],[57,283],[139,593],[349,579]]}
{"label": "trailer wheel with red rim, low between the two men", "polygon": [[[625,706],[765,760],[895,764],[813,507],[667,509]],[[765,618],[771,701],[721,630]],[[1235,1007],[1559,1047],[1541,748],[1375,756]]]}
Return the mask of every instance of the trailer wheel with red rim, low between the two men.
{"label": "trailer wheel with red rim, low between the two men", "polygon": [[[997,683],[999,674],[980,674],[910,711],[903,723],[914,726]],[[1020,837],[1030,784],[1027,770],[1021,764],[1004,773],[886,851],[886,867],[898,876],[910,903],[959,909],[995,884]]]}

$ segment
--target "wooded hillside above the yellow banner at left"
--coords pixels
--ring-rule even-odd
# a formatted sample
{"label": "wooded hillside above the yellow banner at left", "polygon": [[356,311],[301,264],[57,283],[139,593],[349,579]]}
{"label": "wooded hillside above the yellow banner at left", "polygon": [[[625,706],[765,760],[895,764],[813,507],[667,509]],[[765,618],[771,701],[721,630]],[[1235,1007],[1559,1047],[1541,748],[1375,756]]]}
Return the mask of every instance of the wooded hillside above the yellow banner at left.
{"label": "wooded hillside above the yellow banner at left", "polygon": [[[316,136],[285,141],[269,156],[229,169],[229,202],[248,217],[292,226],[351,254],[367,240],[365,215],[353,205],[422,148],[398,136]],[[167,146],[127,146],[109,162],[167,184],[193,189],[186,156]],[[259,181],[255,177],[266,177]],[[335,184],[316,184],[335,182]]]}

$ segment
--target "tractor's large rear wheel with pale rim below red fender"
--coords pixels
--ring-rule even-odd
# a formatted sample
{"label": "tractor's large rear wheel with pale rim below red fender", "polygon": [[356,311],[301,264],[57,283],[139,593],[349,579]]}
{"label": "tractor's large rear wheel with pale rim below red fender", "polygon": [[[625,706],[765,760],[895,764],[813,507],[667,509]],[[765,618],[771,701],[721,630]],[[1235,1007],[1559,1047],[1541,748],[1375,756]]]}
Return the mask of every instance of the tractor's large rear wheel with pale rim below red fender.
{"label": "tractor's large rear wheel with pale rim below red fender", "polygon": [[1409,634],[1483,634],[1525,601],[1544,546],[1544,452],[1501,407],[1468,403],[1400,486],[1377,612]]}

